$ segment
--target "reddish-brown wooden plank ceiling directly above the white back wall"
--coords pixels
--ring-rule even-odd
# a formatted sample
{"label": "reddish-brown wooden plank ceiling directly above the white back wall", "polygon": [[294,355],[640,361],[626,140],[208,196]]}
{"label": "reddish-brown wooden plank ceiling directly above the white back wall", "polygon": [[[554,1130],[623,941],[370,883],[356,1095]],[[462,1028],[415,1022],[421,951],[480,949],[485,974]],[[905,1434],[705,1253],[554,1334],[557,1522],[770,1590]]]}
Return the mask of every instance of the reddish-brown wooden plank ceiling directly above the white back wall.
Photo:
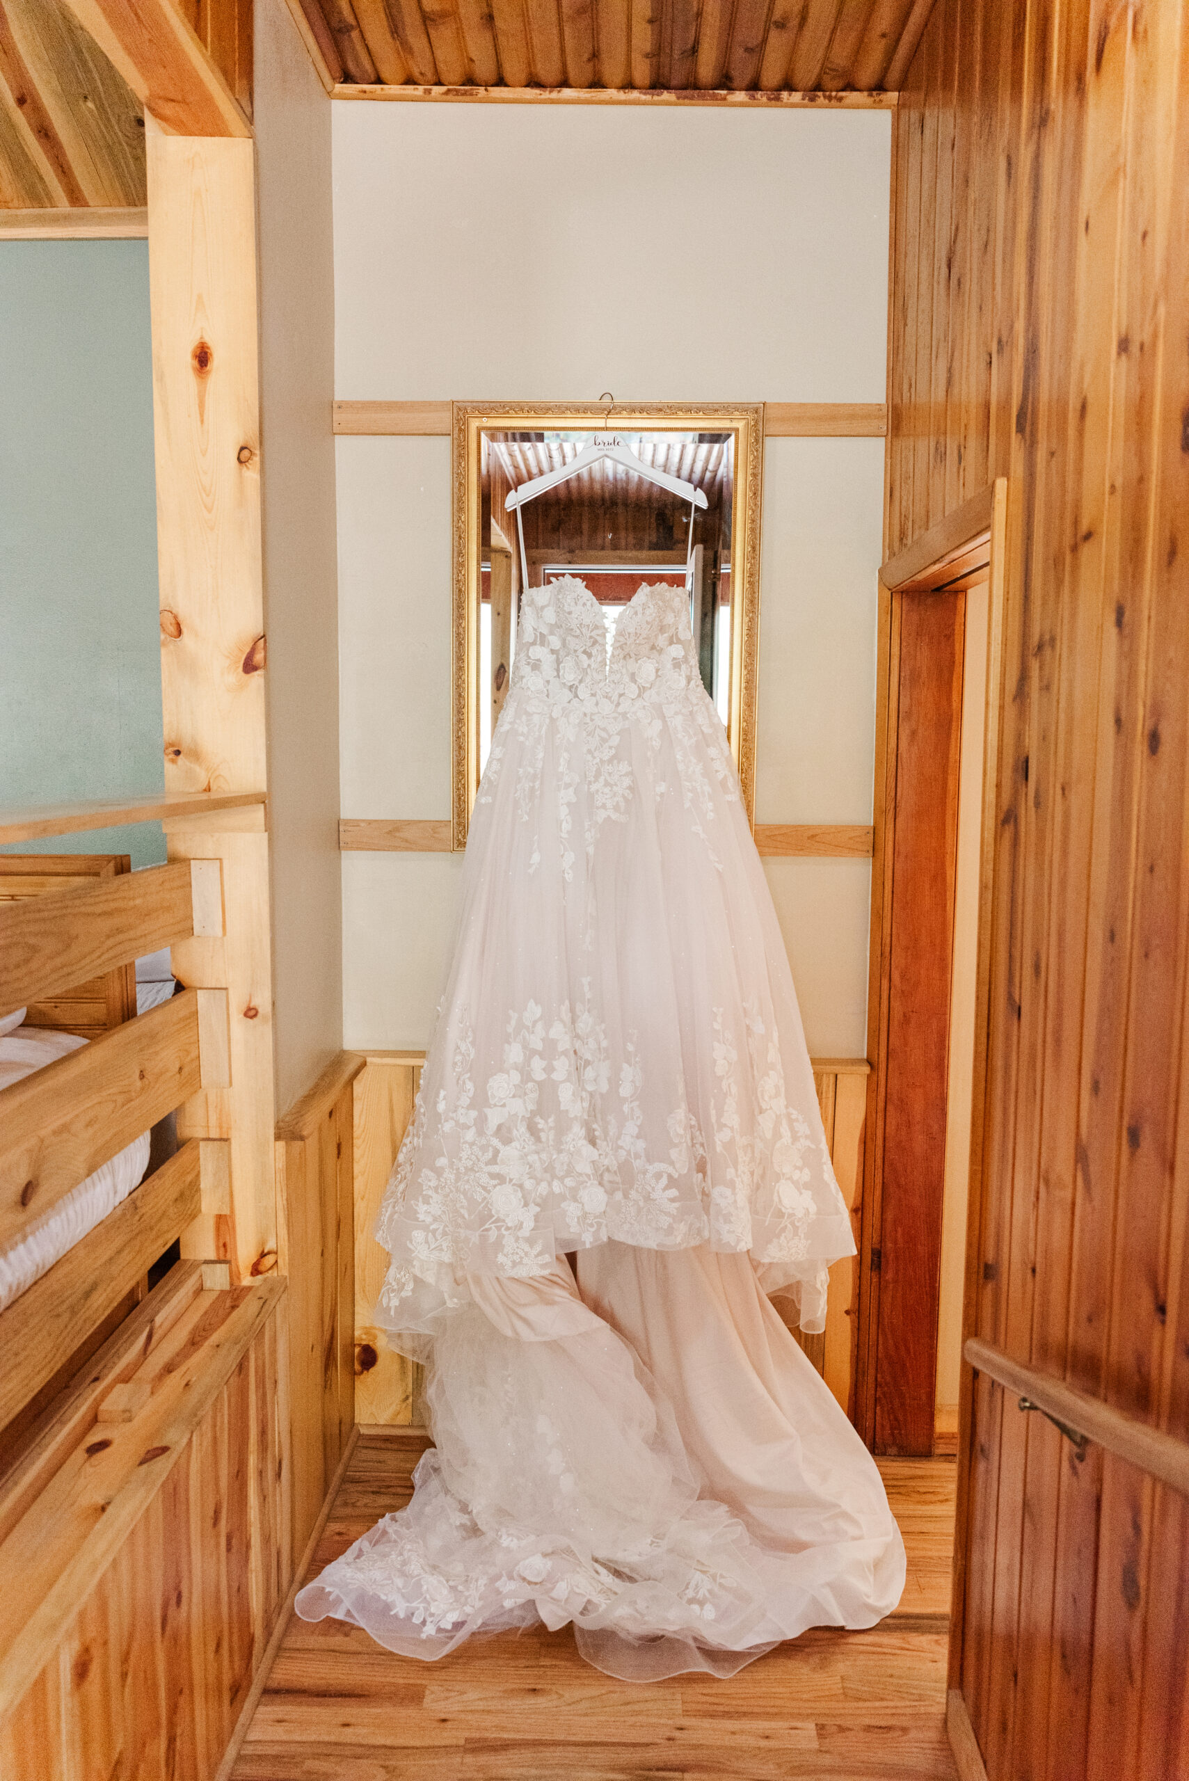
{"label": "reddish-brown wooden plank ceiling directly above the white back wall", "polygon": [[895,91],[933,0],[297,0],[345,85]]}

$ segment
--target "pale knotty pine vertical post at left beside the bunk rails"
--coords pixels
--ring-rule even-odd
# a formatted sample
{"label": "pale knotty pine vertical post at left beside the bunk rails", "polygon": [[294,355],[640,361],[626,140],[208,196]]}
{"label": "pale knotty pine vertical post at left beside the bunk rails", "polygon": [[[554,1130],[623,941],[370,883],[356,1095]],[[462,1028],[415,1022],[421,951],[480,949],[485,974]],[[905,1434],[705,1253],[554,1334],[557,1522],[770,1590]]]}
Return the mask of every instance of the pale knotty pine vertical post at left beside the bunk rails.
{"label": "pale knotty pine vertical post at left beside the bunk rails", "polygon": [[[265,785],[255,171],[251,141],[148,141],[150,308],[162,709],[169,791]],[[205,826],[206,825],[206,826]],[[185,1252],[235,1279],[276,1254],[272,981],[263,807],[171,819],[171,858],[222,862],[226,937],[187,940],[174,972],[226,988],[231,1086],[178,1129],[228,1138],[231,1215]],[[210,1252],[214,1247],[214,1254]]]}

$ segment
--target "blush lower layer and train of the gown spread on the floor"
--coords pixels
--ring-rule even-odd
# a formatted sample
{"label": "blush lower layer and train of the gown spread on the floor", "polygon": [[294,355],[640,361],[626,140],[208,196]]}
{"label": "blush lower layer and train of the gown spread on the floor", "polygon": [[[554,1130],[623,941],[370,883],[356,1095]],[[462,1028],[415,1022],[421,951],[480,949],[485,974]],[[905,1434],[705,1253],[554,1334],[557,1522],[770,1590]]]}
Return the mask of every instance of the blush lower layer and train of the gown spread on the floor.
{"label": "blush lower layer and train of the gown spread on the floor", "polygon": [[578,1282],[562,1257],[441,1316],[413,1501],[297,1614],[418,1658],[571,1622],[637,1681],[888,1614],[904,1548],[879,1473],[748,1257],[609,1243]]}

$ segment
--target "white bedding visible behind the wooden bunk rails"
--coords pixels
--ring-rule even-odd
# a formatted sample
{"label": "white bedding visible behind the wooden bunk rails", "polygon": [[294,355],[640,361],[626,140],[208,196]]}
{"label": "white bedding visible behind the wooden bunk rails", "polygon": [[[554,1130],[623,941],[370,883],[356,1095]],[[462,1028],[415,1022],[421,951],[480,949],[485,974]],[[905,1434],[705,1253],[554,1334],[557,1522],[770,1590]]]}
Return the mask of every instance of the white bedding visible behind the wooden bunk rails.
{"label": "white bedding visible behind the wooden bunk rails", "polygon": [[[173,994],[173,983],[169,985]],[[75,1033],[53,1033],[37,1026],[18,1026],[0,1037],[0,1088],[20,1083],[55,1058],[85,1045]],[[20,1298],[55,1261],[93,1231],[101,1218],[126,1200],[148,1168],[150,1134],[139,1138],[110,1163],[73,1188],[64,1199],[36,1218],[9,1248],[0,1248],[0,1311]]]}

